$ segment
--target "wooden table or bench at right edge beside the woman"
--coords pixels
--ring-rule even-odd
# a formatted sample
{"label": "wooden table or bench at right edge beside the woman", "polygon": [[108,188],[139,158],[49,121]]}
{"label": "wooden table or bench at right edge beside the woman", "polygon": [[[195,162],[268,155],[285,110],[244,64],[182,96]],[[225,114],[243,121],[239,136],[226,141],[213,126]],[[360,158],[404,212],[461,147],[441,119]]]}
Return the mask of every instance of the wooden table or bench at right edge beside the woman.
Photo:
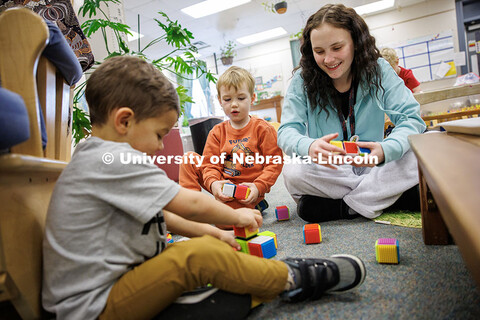
{"label": "wooden table or bench at right edge beside the woman", "polygon": [[480,287],[480,136],[432,132],[409,142],[418,159],[425,244],[453,237]]}

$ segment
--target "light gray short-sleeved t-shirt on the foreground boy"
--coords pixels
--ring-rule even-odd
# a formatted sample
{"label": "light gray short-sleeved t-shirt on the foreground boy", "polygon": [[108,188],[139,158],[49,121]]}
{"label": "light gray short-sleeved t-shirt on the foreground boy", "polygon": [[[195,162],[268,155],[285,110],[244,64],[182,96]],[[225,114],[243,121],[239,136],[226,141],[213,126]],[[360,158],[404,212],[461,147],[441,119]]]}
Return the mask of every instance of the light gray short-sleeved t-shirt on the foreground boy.
{"label": "light gray short-sleeved t-shirt on the foreground boy", "polygon": [[162,208],[180,187],[153,164],[122,163],[127,154],[143,156],[127,143],[89,138],[55,185],[42,301],[57,319],[97,318],[113,284],[165,247]]}

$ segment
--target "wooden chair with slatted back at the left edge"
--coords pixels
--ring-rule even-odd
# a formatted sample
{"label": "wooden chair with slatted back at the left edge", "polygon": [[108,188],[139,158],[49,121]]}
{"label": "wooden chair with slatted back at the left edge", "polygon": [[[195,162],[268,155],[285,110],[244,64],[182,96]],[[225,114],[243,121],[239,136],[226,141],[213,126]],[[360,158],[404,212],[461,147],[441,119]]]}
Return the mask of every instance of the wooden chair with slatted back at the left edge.
{"label": "wooden chair with slatted back at the left edge", "polygon": [[[0,15],[0,79],[22,96],[30,120],[29,140],[0,156],[0,302],[9,301],[23,319],[45,315],[40,298],[45,218],[71,152],[72,89],[40,58],[48,36],[43,19],[30,10]],[[45,150],[37,97],[48,136]]]}

